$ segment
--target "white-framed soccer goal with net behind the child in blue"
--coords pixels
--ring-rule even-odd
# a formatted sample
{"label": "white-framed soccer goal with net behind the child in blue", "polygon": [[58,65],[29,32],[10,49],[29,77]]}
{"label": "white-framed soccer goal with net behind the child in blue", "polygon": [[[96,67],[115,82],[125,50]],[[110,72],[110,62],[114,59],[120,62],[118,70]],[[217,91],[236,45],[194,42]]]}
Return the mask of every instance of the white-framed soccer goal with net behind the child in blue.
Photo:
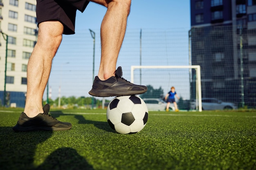
{"label": "white-framed soccer goal with net behind the child in blue", "polygon": [[[180,97],[180,99],[175,98],[180,110],[202,111],[201,75],[198,65],[131,66],[131,82],[148,87],[148,91],[140,95],[146,100],[164,100],[165,95],[171,91],[173,86]],[[154,103],[153,100],[151,102],[151,104]],[[158,107],[157,103],[155,107]],[[155,108],[155,110],[161,109]]]}

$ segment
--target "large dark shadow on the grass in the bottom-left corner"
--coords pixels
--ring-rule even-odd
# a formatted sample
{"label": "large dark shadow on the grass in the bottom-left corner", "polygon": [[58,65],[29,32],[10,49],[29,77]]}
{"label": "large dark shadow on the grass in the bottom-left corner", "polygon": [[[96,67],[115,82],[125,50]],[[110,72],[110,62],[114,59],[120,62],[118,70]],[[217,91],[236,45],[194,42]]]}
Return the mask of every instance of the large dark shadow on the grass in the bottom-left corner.
{"label": "large dark shadow on the grass in the bottom-left corner", "polygon": [[52,131],[13,132],[11,128],[0,127],[1,170],[93,170],[76,150],[69,147],[54,150],[40,166],[35,166],[34,157],[40,160],[40,153],[35,155],[36,147],[50,138]]}

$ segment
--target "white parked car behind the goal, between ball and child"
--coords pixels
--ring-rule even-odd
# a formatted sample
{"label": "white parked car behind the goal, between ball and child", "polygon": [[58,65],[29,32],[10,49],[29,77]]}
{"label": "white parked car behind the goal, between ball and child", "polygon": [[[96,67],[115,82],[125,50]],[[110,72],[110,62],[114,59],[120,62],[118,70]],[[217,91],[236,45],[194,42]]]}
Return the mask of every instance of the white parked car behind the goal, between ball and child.
{"label": "white parked car behind the goal, between ball and child", "polygon": [[[162,99],[157,98],[145,98],[143,99],[148,107],[148,111],[164,111],[166,110],[167,103]],[[175,110],[174,105],[169,105],[169,110]]]}

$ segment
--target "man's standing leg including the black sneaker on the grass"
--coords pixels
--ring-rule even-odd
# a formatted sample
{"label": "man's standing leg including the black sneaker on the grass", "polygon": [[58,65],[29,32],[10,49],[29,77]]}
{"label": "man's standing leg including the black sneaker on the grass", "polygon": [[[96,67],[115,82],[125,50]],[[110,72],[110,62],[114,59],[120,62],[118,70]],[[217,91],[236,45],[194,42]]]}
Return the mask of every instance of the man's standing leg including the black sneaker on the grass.
{"label": "man's standing leg including the black sneaker on the grass", "polygon": [[52,59],[61,44],[63,25],[51,21],[39,24],[38,41],[27,66],[27,100],[20,114],[15,132],[34,130],[70,130],[72,124],[48,115],[50,106],[42,108],[42,98],[49,79]]}

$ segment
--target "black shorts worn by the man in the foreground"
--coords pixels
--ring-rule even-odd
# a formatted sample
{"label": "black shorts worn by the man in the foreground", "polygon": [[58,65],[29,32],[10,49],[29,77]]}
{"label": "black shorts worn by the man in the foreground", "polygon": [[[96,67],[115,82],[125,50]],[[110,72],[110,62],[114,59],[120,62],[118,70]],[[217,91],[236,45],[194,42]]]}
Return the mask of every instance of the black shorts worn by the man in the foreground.
{"label": "black shorts worn by the man in the foreground", "polygon": [[36,0],[38,25],[45,21],[60,21],[64,26],[63,34],[75,33],[76,10],[83,12],[88,0]]}

